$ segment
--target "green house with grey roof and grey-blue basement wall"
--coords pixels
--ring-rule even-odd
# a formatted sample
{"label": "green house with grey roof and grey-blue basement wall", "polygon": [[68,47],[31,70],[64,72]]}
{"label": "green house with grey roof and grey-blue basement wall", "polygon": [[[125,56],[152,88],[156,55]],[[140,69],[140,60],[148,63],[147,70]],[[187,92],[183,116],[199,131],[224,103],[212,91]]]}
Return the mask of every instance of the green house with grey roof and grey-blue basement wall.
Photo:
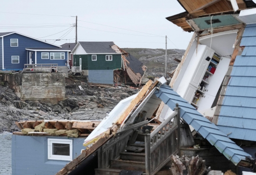
{"label": "green house with grey roof and grey-blue basement wall", "polygon": [[78,42],[71,55],[72,72],[88,76],[88,83],[114,84],[114,71],[123,64],[114,42]]}

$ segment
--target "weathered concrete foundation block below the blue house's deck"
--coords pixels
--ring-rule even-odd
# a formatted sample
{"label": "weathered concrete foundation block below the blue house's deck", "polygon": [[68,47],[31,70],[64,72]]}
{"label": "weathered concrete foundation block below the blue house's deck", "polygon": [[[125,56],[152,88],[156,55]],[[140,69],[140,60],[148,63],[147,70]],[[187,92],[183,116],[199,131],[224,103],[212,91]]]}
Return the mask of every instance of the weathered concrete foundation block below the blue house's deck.
{"label": "weathered concrete foundation block below the blue house's deck", "polygon": [[63,73],[5,74],[3,80],[9,83],[20,100],[41,100],[53,104],[65,100]]}

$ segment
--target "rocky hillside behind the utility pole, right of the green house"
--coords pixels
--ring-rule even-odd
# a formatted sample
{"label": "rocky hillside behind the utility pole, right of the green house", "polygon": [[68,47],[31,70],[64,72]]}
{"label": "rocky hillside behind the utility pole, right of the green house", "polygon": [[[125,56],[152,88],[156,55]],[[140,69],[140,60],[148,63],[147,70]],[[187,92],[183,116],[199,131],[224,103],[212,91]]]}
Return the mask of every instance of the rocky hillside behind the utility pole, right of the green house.
{"label": "rocky hillside behind the utility pole, right of the green house", "polygon": [[[144,48],[123,48],[135,58],[144,63],[147,67],[146,76],[161,77],[165,76],[165,50],[164,49],[144,49]],[[181,60],[185,50],[167,50],[167,72],[172,72]],[[145,77],[146,77],[145,76]],[[167,75],[168,77],[168,75]]]}

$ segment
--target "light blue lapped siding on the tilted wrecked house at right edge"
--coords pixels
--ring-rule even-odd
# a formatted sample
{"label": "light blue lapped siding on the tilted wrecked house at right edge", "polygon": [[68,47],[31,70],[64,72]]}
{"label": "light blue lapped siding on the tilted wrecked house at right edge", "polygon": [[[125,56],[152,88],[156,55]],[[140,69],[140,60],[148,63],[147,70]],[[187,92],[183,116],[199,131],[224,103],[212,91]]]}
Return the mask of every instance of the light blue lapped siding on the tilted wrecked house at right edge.
{"label": "light blue lapped siding on the tilted wrecked house at right edge", "polygon": [[256,141],[256,24],[246,26],[240,46],[217,125],[229,138]]}

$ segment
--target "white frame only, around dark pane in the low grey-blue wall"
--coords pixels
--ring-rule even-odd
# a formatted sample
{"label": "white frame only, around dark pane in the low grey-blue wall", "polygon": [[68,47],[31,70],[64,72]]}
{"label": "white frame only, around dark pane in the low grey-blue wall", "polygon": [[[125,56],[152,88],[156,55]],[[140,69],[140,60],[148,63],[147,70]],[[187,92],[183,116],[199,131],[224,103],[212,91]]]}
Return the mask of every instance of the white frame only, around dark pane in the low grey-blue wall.
{"label": "white frame only, around dark pane in the low grey-blue wall", "polygon": [[[69,156],[62,156],[62,155],[54,155],[52,145],[53,143],[62,143],[62,144],[69,144]],[[69,139],[48,139],[48,159],[50,160],[73,160],[73,140]]]}

